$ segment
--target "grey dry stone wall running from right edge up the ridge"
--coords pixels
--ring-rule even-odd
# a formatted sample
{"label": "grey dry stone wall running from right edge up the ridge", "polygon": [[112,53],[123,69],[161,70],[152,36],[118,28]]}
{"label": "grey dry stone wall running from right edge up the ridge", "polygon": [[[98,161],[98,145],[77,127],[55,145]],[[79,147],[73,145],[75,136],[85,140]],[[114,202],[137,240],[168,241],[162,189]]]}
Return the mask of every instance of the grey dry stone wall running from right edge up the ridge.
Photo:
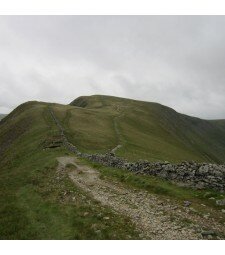
{"label": "grey dry stone wall running from right edge up the ridge", "polygon": [[225,191],[225,165],[187,161],[179,164],[171,164],[169,162],[151,163],[146,160],[128,162],[126,159],[117,157],[113,152],[107,154],[81,153],[76,146],[68,141],[63,127],[52,110],[50,110],[50,113],[61,132],[64,146],[79,157],[87,158],[105,166],[126,169],[137,174],[159,176],[197,189],[210,188],[220,192]]}

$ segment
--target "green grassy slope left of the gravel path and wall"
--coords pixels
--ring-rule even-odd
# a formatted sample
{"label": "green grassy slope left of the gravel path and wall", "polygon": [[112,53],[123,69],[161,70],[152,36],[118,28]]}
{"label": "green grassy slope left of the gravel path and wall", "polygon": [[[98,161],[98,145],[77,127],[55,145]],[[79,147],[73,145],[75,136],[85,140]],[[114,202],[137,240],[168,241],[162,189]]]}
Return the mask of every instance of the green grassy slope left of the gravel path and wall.
{"label": "green grassy slope left of the gravel path and wall", "polygon": [[126,217],[56,175],[56,157],[68,153],[44,148],[58,138],[45,103],[23,104],[0,122],[0,239],[136,238]]}

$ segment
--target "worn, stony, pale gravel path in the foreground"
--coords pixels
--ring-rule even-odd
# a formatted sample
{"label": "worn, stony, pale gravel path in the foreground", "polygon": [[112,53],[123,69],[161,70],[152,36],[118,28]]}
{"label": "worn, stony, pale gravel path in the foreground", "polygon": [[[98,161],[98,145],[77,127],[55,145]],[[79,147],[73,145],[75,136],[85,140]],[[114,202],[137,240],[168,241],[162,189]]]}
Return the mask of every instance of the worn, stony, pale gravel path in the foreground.
{"label": "worn, stony, pale gravel path in the foreground", "polygon": [[[198,231],[200,225],[184,224],[187,219],[200,223],[202,220],[190,214],[187,208],[178,208],[169,199],[162,200],[147,191],[127,188],[113,180],[100,179],[97,170],[82,165],[76,157],[60,157],[58,161],[58,171],[65,169],[68,164],[74,166],[68,172],[69,177],[93,199],[128,216],[141,233],[140,238],[202,239]],[[215,225],[217,227],[221,226]]]}

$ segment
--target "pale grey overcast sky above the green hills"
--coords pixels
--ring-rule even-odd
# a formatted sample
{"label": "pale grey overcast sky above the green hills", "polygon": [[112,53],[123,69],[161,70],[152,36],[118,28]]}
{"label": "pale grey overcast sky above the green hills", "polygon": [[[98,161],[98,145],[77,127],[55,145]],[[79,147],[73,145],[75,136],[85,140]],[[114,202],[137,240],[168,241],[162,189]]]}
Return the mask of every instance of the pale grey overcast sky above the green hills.
{"label": "pale grey overcast sky above the green hills", "polygon": [[0,17],[0,113],[92,94],[225,119],[225,16]]}

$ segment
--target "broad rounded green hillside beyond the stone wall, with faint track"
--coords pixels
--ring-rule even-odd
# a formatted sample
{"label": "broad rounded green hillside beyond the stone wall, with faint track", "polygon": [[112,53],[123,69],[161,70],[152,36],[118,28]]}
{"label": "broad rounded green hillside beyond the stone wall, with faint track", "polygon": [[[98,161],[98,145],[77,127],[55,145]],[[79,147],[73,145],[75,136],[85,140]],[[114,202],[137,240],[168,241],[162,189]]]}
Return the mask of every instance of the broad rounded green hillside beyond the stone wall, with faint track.
{"label": "broad rounded green hillside beyond the stone wall, with faint track", "polygon": [[80,97],[71,105],[80,109],[70,108],[65,124],[81,149],[107,151],[121,144],[117,154],[130,160],[225,161],[223,120],[201,120],[157,103],[109,96]]}

